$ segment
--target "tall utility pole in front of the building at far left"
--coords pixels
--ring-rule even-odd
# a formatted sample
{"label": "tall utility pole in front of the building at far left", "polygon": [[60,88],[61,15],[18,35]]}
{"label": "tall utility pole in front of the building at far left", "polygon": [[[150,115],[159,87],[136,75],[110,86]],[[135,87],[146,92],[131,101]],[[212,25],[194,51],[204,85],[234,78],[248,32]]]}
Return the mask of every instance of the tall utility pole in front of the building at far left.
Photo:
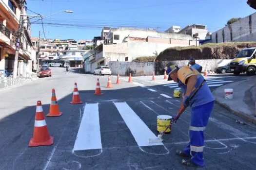
{"label": "tall utility pole in front of the building at far left", "polygon": [[18,58],[19,58],[19,51],[20,51],[20,43],[21,43],[21,35],[23,32],[23,13],[24,13],[24,3],[25,0],[20,1],[20,21],[19,21],[19,30],[17,33],[16,38],[16,50],[15,50],[15,58],[14,58],[14,68],[13,68],[13,78],[17,78],[18,73]]}

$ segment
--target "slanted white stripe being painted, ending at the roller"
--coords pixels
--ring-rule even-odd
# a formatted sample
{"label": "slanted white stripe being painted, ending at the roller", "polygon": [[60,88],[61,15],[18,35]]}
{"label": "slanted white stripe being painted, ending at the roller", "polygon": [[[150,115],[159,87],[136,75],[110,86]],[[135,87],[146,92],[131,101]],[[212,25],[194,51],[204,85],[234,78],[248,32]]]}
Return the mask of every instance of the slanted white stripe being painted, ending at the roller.
{"label": "slanted white stripe being painted, ending at the roller", "polygon": [[154,146],[163,145],[160,143],[149,143],[149,138],[157,138],[157,136],[147,127],[147,125],[138,117],[126,102],[114,102],[122,119],[130,129],[138,146]]}

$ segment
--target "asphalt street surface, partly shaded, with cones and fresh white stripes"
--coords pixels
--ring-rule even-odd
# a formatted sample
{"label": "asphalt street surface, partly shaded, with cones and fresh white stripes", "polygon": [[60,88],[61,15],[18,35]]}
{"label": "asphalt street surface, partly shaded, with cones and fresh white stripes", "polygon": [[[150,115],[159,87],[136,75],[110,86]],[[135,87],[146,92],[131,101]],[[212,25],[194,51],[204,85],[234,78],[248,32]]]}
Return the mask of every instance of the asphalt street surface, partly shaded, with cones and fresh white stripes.
{"label": "asphalt street surface, partly shaded, with cones and fresh white stripes", "polygon": [[[93,95],[99,78],[103,95]],[[107,76],[67,73],[53,68],[52,77],[0,92],[0,170],[186,170],[175,155],[188,142],[190,108],[164,141],[156,137],[157,116],[173,116],[179,99],[121,79],[106,88]],[[82,104],[70,104],[74,82]],[[46,117],[54,136],[51,146],[28,147],[33,136],[36,103],[49,112],[55,88],[60,117]],[[149,90],[150,89],[150,90]],[[205,131],[203,170],[255,170],[256,130],[215,105]]]}

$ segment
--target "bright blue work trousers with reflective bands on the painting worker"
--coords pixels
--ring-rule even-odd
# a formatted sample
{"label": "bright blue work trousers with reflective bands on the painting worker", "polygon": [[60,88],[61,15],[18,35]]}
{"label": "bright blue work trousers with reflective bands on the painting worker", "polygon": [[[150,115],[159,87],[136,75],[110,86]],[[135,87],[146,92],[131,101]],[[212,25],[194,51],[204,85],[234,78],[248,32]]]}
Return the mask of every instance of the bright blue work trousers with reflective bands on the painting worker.
{"label": "bright blue work trousers with reflective bands on the painting worker", "polygon": [[189,144],[184,148],[184,153],[191,155],[191,161],[199,166],[204,166],[203,131],[208,123],[214,102],[209,102],[192,108],[191,121],[189,127]]}

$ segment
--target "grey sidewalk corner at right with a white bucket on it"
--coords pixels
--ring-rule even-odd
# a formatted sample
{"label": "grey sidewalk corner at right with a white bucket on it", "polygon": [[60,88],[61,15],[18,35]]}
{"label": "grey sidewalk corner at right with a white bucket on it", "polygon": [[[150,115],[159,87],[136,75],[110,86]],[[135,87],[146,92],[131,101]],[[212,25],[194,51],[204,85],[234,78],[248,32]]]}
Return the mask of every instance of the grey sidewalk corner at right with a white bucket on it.
{"label": "grey sidewalk corner at right with a white bucket on it", "polygon": [[[224,89],[233,89],[233,99],[225,99]],[[217,104],[226,108],[230,112],[256,124],[255,96],[256,83],[255,76],[248,77],[247,80],[239,81],[227,85],[222,85],[213,91]]]}

